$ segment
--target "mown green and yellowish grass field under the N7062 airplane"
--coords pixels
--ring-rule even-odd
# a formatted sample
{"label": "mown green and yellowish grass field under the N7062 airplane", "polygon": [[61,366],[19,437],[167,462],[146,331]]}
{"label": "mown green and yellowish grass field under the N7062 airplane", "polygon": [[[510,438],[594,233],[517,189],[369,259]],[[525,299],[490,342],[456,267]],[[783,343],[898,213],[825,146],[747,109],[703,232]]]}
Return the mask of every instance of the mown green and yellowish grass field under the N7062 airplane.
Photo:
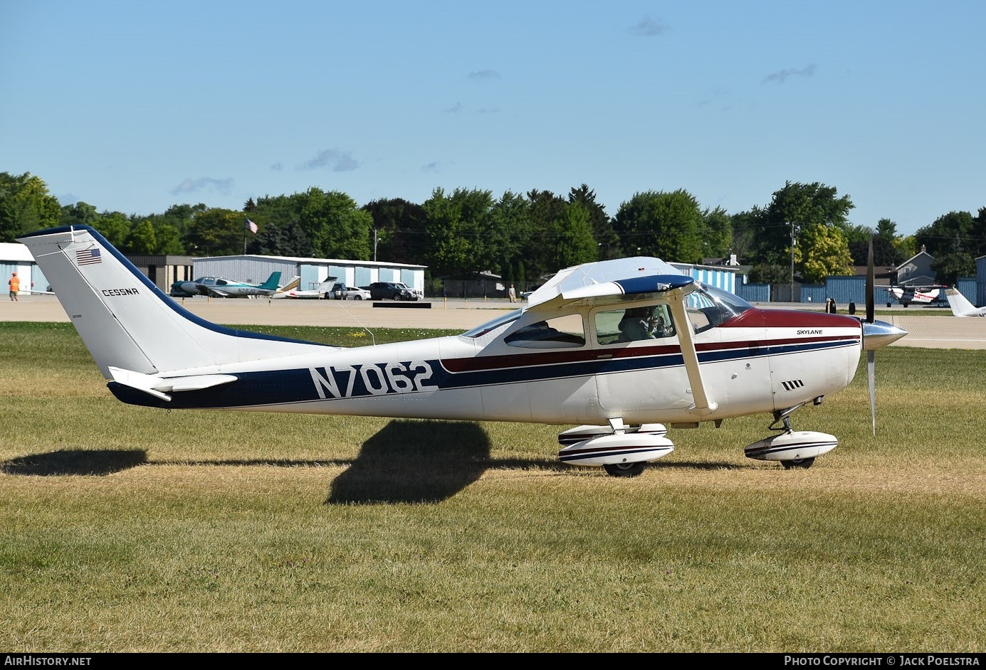
{"label": "mown green and yellowish grass field under the N7062 airplane", "polygon": [[808,470],[758,416],[617,479],[559,427],[132,407],[70,324],[0,336],[5,651],[986,650],[986,351],[880,350],[877,435],[864,362]]}

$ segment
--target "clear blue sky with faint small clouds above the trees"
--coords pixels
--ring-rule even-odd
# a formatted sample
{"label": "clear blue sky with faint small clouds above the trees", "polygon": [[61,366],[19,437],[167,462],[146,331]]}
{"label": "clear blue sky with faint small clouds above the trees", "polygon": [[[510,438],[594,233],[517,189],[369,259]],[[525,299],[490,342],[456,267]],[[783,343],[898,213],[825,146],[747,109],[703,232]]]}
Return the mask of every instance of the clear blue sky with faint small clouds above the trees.
{"label": "clear blue sky with faint small clouds above the trees", "polygon": [[913,234],[986,207],[986,3],[0,0],[0,171],[65,205],[241,209],[312,186],[821,182]]}

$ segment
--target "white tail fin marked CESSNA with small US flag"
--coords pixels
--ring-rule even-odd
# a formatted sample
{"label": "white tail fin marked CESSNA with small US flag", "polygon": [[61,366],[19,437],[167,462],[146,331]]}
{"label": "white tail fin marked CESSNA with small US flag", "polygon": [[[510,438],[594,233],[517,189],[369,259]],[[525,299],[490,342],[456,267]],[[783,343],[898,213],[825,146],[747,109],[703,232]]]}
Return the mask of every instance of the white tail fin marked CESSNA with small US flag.
{"label": "white tail fin marked CESSNA with small US flag", "polygon": [[[24,242],[106,379],[324,351],[324,345],[233,330],[185,310],[88,226],[26,234]],[[216,370],[218,371],[218,370]]]}

